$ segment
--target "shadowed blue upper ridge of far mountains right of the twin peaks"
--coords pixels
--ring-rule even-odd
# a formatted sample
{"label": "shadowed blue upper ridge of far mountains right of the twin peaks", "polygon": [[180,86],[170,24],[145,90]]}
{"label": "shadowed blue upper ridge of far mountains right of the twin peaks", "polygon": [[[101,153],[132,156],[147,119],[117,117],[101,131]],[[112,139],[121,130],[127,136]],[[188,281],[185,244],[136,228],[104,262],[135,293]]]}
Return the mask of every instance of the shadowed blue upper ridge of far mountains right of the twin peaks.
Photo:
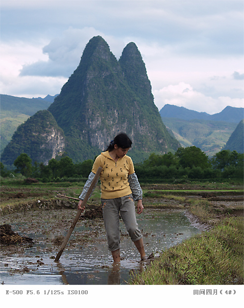
{"label": "shadowed blue upper ridge of far mountains right of the twin peaks", "polygon": [[165,105],[160,110],[162,118],[178,118],[182,120],[208,120],[208,121],[224,121],[239,123],[244,118],[244,108],[225,107],[221,112],[208,114],[206,112],[197,112],[189,110],[185,107],[175,105]]}

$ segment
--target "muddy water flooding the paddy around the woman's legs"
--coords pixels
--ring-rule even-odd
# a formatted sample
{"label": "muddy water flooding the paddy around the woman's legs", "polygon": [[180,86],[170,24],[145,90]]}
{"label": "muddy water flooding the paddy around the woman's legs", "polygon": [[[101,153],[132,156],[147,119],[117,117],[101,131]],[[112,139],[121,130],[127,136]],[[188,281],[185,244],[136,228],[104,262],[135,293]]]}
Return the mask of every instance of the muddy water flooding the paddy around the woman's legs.
{"label": "muddy water flooding the paddy around the woman's legs", "polygon": [[[1,248],[0,282],[4,284],[126,284],[130,270],[143,270],[140,256],[121,222],[122,261],[114,266],[107,249],[102,220],[76,224],[58,262],[63,238],[76,210],[38,210],[11,214],[1,218],[14,232],[34,240],[32,247]],[[144,210],[137,216],[144,236],[146,255],[176,245],[200,232],[182,210]]]}

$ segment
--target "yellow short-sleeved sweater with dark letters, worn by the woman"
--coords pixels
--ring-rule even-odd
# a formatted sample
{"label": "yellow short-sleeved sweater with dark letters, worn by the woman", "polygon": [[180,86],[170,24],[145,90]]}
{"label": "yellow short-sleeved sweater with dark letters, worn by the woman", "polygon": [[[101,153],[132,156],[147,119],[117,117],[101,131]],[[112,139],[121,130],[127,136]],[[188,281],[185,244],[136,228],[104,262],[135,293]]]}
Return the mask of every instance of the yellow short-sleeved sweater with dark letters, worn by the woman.
{"label": "yellow short-sleeved sweater with dark letters, worn by the woman", "polygon": [[101,167],[101,198],[113,199],[131,194],[128,175],[135,172],[132,159],[125,155],[115,162],[109,152],[102,152],[95,160],[92,172]]}

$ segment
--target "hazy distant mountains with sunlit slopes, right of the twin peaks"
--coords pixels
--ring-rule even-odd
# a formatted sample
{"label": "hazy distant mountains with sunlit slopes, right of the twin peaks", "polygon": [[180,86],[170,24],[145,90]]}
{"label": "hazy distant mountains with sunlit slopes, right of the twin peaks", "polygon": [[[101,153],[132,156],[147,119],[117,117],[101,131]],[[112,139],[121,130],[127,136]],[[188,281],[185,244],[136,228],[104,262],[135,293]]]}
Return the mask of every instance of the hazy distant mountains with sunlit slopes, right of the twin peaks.
{"label": "hazy distant mountains with sunlit slopes, right of the twin peaks", "polygon": [[[196,146],[207,155],[213,156],[225,148],[226,142],[237,128],[237,123],[243,120],[244,108],[227,106],[220,113],[208,114],[196,112],[184,107],[165,105],[160,110],[160,115],[166,127],[170,129],[174,137],[182,146]],[[232,149],[242,150],[239,146],[242,135],[237,130]],[[230,141],[229,141],[230,142]]]}

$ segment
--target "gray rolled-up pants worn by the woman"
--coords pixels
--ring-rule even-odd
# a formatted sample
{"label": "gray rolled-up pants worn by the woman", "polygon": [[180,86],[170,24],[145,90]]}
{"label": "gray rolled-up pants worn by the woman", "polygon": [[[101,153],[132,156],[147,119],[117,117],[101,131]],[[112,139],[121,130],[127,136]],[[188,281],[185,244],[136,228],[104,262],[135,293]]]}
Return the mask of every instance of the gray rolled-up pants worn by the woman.
{"label": "gray rolled-up pants worn by the woman", "polygon": [[131,240],[136,242],[142,238],[136,222],[135,203],[132,195],[114,199],[101,199],[101,202],[108,249],[111,252],[121,248],[120,215]]}

